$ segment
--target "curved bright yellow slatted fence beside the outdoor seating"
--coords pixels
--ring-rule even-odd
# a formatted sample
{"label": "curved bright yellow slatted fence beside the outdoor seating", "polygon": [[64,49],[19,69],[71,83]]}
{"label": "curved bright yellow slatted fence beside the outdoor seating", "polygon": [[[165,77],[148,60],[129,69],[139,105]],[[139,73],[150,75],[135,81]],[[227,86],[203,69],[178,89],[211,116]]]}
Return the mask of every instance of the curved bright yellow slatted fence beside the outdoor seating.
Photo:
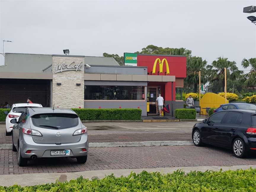
{"label": "curved bright yellow slatted fence beside the outdoor seating", "polygon": [[225,98],[220,95],[215,93],[206,93],[200,101],[200,107],[203,114],[206,115],[206,109],[203,108],[217,108],[225,103],[228,103],[228,100],[225,102]]}

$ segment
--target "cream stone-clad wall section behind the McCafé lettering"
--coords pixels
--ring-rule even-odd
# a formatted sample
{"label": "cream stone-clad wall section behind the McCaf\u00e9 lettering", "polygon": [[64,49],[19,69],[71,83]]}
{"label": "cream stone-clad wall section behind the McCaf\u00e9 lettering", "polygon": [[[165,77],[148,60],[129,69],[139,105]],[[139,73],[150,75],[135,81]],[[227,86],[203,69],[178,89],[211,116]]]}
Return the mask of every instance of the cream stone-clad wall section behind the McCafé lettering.
{"label": "cream stone-clad wall section behind the McCaf\u00e9 lettering", "polygon": [[[63,71],[55,73],[58,64],[71,62],[84,65],[84,57],[52,56],[52,106],[61,108],[84,108],[84,68],[82,71]],[[57,85],[61,83],[61,85]],[[81,86],[76,84],[80,83]]]}

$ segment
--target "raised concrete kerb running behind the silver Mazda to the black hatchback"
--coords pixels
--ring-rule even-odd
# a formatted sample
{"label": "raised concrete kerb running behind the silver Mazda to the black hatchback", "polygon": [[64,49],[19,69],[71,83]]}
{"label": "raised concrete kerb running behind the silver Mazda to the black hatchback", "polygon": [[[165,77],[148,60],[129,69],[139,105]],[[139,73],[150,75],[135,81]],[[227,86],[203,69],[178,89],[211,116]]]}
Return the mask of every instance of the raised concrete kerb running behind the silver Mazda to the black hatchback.
{"label": "raised concrete kerb running behind the silver Mazda to the black hatchback", "polygon": [[[142,141],[119,143],[89,143],[89,147],[141,147],[141,146],[174,146],[193,145],[192,141]],[[12,149],[11,144],[0,145],[0,149]]]}

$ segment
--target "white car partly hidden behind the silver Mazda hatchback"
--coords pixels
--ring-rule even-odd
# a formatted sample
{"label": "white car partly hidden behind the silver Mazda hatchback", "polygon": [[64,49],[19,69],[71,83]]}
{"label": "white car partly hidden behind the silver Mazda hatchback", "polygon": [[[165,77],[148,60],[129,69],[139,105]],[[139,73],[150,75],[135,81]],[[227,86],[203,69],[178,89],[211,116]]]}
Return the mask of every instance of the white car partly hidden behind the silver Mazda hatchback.
{"label": "white car partly hidden behind the silver Mazda hatchback", "polygon": [[31,108],[31,107],[43,107],[41,104],[37,103],[17,103],[13,104],[11,107],[10,112],[5,111],[4,113],[7,115],[5,119],[5,125],[6,125],[6,136],[12,135],[12,127],[13,123],[10,121],[15,118],[19,118],[21,113],[25,111],[26,108]]}

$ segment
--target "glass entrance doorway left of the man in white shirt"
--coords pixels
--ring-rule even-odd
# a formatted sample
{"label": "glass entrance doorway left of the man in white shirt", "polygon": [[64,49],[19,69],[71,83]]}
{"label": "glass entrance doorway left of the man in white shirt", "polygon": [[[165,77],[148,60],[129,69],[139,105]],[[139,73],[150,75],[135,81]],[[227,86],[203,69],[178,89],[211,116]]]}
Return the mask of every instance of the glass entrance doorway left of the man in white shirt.
{"label": "glass entrance doorway left of the man in white shirt", "polygon": [[148,115],[157,115],[156,98],[161,93],[161,87],[159,86],[148,86],[147,102],[149,102]]}

